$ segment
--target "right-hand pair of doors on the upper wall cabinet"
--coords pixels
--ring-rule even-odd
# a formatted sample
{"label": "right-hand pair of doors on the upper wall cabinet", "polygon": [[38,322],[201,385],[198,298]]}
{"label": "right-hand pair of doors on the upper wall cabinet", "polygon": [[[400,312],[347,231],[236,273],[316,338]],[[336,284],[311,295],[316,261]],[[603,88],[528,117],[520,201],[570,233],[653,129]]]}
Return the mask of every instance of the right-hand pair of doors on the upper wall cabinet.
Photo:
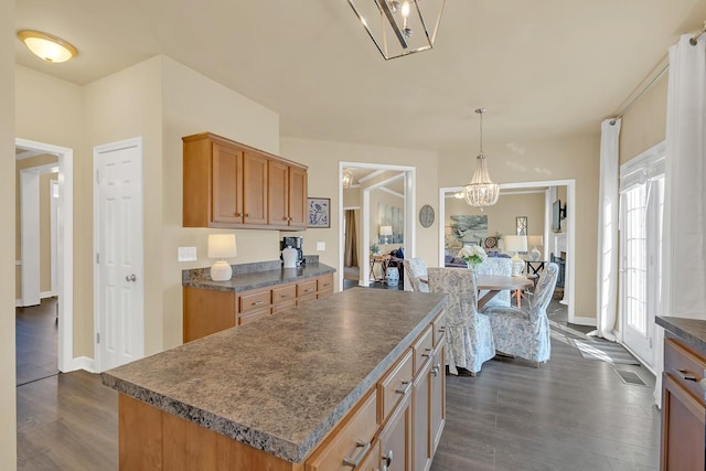
{"label": "right-hand pair of doors on the upper wall cabinet", "polygon": [[307,225],[307,172],[302,168],[270,160],[268,222],[270,226],[302,229]]}

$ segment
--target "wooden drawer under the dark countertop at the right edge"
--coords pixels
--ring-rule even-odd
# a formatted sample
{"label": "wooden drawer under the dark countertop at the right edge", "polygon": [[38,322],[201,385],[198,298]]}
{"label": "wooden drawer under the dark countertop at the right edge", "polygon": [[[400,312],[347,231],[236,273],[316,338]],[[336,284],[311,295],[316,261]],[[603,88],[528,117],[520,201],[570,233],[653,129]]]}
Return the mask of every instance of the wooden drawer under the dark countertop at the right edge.
{"label": "wooden drawer under the dark countertop at the right edge", "polygon": [[664,373],[704,404],[704,389],[699,381],[704,377],[706,360],[692,351],[678,339],[664,339]]}

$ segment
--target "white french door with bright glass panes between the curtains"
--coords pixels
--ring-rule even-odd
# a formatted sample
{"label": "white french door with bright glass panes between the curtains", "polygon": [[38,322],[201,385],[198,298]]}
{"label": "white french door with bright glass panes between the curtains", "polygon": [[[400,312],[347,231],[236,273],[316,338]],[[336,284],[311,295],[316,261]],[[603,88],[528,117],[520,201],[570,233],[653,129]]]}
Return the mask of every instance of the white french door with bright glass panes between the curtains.
{"label": "white french door with bright glass panes between the curtains", "polygon": [[637,162],[629,162],[632,172],[621,169],[622,341],[650,367],[654,365],[654,318],[662,290],[663,156],[646,156],[638,169]]}

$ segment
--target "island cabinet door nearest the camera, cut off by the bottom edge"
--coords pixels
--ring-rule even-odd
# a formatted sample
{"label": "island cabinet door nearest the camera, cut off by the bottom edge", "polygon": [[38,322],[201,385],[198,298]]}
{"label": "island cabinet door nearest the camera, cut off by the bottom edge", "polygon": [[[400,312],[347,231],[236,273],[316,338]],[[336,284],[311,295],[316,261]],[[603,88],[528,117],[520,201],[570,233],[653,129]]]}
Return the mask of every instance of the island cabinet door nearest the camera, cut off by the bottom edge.
{"label": "island cabinet door nearest the camera, cut off by the bottom edge", "polygon": [[379,433],[381,471],[411,470],[411,395],[405,395]]}

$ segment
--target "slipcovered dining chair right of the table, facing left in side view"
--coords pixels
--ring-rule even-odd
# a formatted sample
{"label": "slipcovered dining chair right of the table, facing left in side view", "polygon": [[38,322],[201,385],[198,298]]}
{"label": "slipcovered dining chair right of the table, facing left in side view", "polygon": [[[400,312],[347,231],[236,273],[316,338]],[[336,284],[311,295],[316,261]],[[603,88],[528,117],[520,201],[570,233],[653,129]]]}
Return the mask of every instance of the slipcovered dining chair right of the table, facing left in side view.
{"label": "slipcovered dining chair right of the table, facing left in side view", "polygon": [[509,355],[535,363],[545,363],[552,355],[547,307],[552,301],[559,267],[548,264],[535,288],[527,310],[512,307],[491,307],[483,310],[490,318],[495,349]]}

